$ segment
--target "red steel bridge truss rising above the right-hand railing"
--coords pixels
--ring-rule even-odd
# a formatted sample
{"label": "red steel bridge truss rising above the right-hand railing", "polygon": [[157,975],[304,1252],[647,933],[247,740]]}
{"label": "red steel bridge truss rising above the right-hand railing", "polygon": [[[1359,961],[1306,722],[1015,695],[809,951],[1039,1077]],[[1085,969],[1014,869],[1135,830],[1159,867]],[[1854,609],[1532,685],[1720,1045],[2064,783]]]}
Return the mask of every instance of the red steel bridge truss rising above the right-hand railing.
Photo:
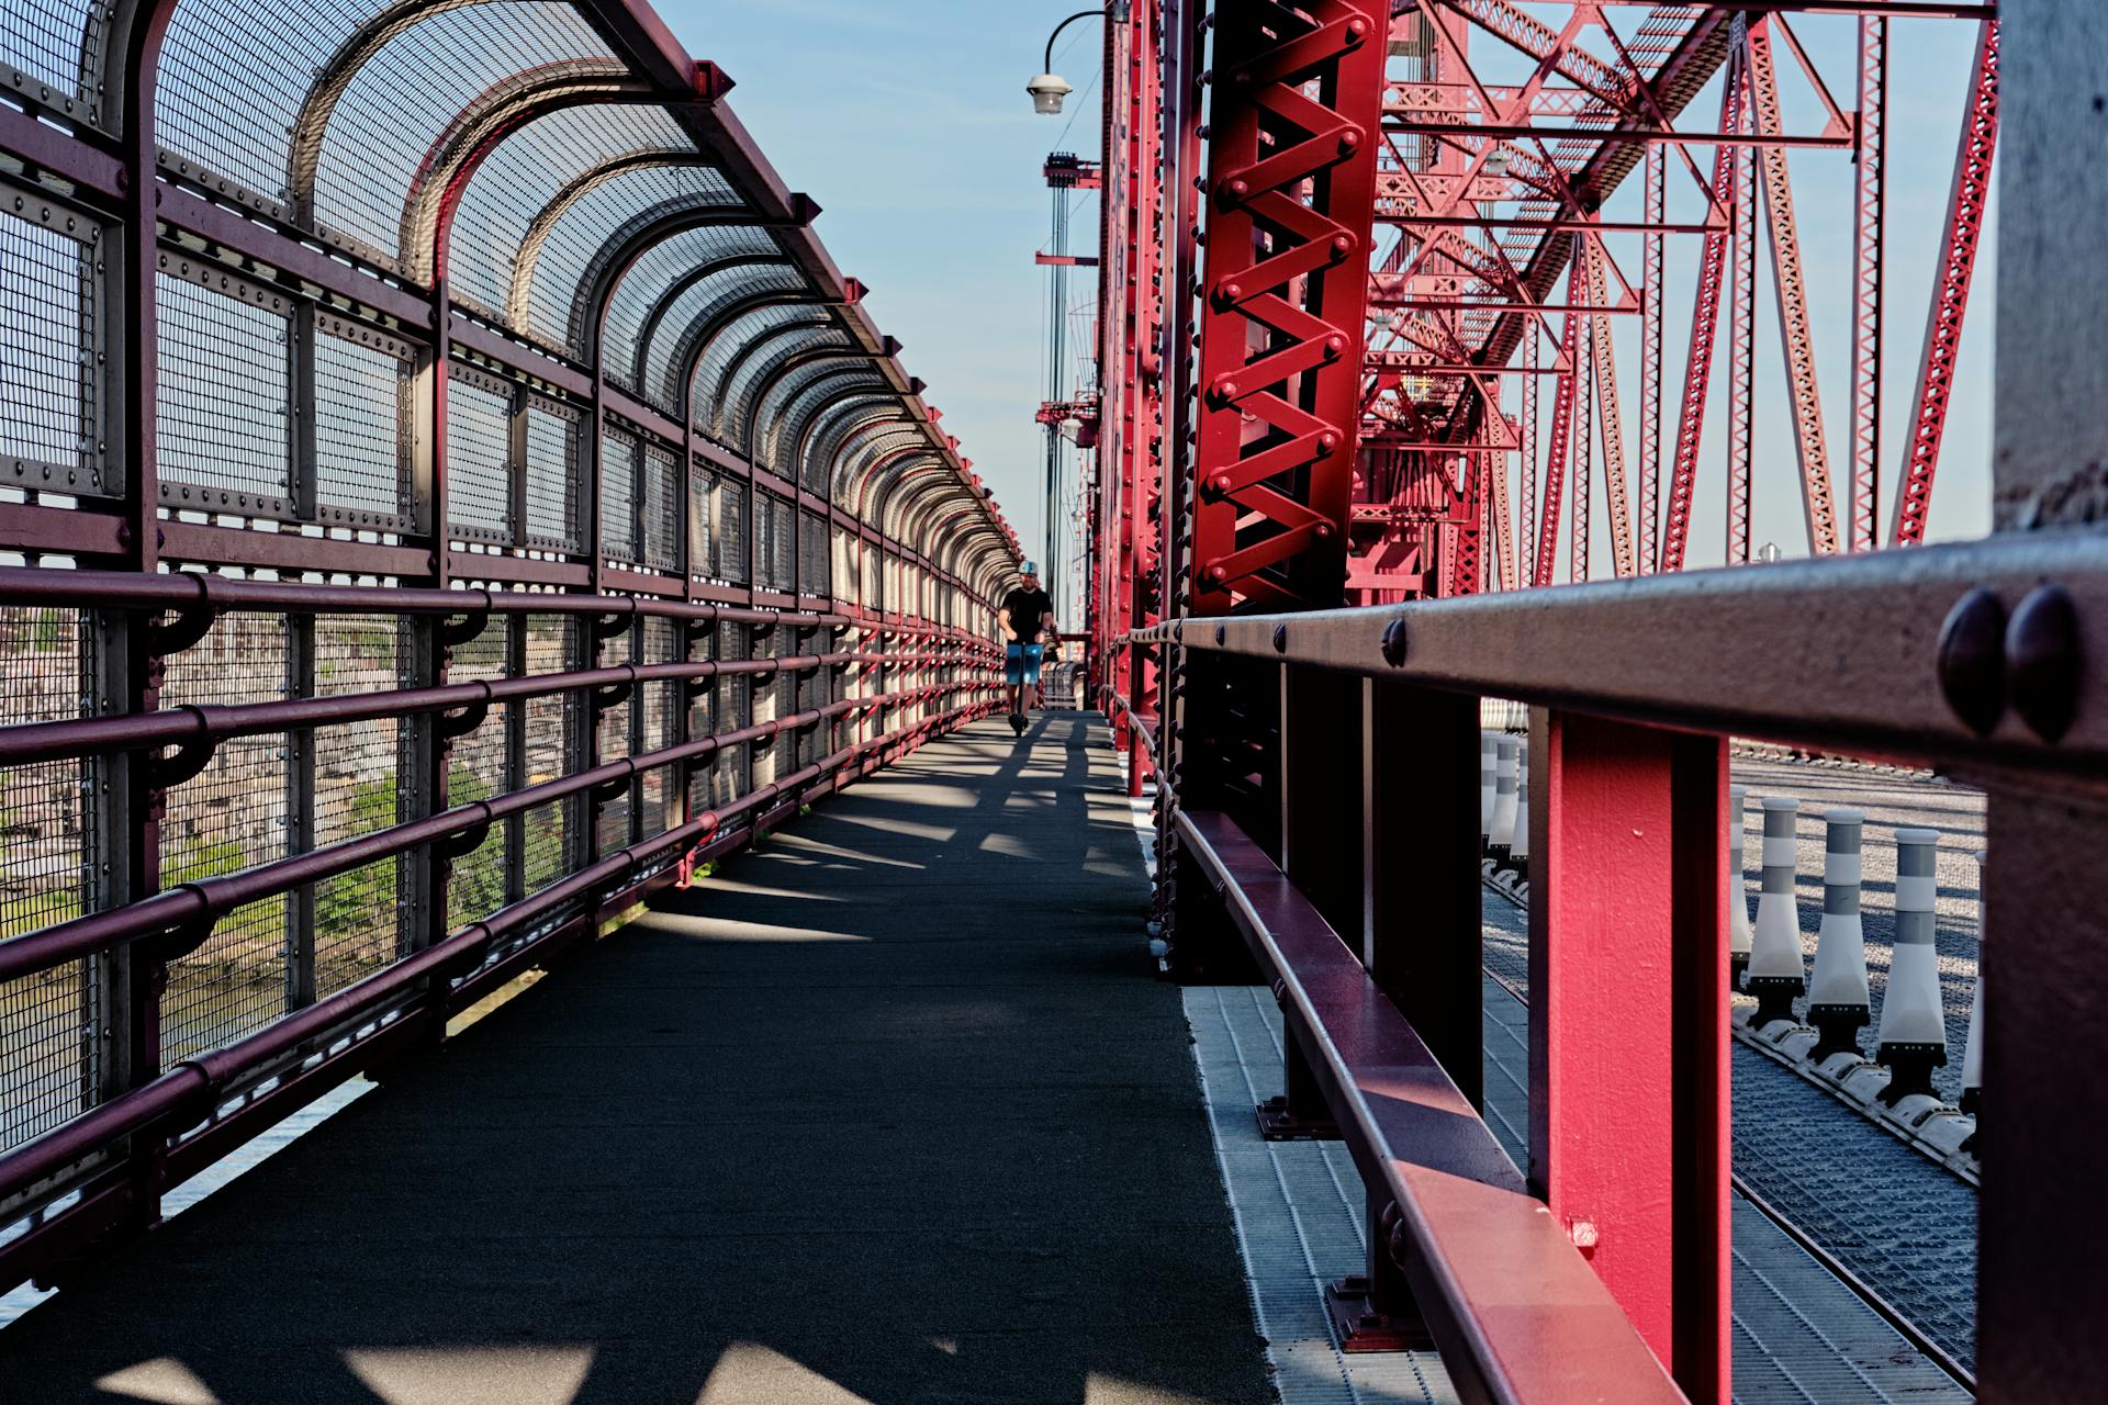
{"label": "red steel bridge truss rising above the right-hand railing", "polygon": [[[1853,74],[1819,70],[1794,29],[1800,13],[1832,25],[1855,17]],[[1117,543],[1145,522],[1157,567],[1138,569],[1147,546],[1096,556],[1098,687],[1153,714],[1149,689],[1130,685],[1111,640],[1189,605],[1284,609],[1585,579],[1596,525],[1608,529],[1600,541],[1615,575],[1680,571],[1716,360],[1729,379],[1726,423],[1712,426],[1724,438],[1722,552],[1750,560],[1754,495],[1775,487],[1756,482],[1752,466],[1760,265],[1783,348],[1802,546],[1882,546],[1885,103],[1889,29],[1899,21],[1971,23],[1979,36],[1969,91],[1956,95],[1967,116],[1912,430],[1901,463],[1887,470],[1887,543],[1914,546],[1996,143],[1994,6],[1414,0],[1360,15],[1379,25],[1370,38],[1381,44],[1358,48],[1362,61],[1339,80],[1307,67],[1261,74],[1240,48],[1252,42],[1240,25],[1256,25],[1292,48],[1292,63],[1318,63],[1332,42],[1322,36],[1355,23],[1326,6],[1136,6],[1126,25],[1111,25],[1109,93],[1124,97],[1102,177],[1100,371],[1107,402],[1136,398],[1164,434],[1143,459],[1102,451],[1096,461],[1094,539]],[[1195,25],[1199,40],[1187,34]],[[1162,74],[1155,110],[1149,74]],[[1714,110],[1691,112],[1710,88],[1720,93],[1716,120]],[[1807,110],[1817,116],[1788,120]],[[1159,133],[1153,143],[1132,141],[1149,131]],[[1705,147],[1710,169],[1693,154]],[[1261,150],[1267,185],[1240,171]],[[1819,396],[1823,348],[1802,278],[1790,152],[1836,152],[1853,169],[1851,343],[1830,350],[1849,352],[1842,432],[1832,432]],[[1613,196],[1632,177],[1632,213],[1606,213],[1623,209]],[[1328,215],[1364,179],[1366,217]],[[1195,181],[1206,185],[1199,202]],[[1166,236],[1136,246],[1134,230],[1151,223]],[[1665,345],[1670,246],[1697,255],[1682,348]],[[1149,303],[1157,284],[1143,284],[1149,305],[1121,291],[1121,257],[1172,274],[1162,308]],[[1366,268],[1360,318],[1347,316],[1345,265]],[[1640,329],[1636,377],[1617,367],[1613,322],[1623,320]],[[1332,350],[1336,337],[1347,341]],[[1355,345],[1358,413],[1345,417],[1336,385]],[[1299,379],[1284,394],[1288,381],[1254,375]],[[1545,377],[1549,413],[1539,419]],[[1674,404],[1667,423],[1663,402]],[[1174,510],[1136,512],[1151,503]],[[1151,575],[1153,590],[1132,588]]]}

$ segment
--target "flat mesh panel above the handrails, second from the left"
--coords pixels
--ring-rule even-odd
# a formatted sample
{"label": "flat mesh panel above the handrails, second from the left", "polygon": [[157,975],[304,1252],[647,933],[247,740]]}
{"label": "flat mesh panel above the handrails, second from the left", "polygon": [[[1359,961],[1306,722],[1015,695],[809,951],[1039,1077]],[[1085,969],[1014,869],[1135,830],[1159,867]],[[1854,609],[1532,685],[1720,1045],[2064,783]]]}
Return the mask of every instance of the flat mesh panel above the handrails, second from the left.
{"label": "flat mesh panel above the handrails, second from the left", "polygon": [[287,497],[287,318],[169,274],[156,278],[156,295],[162,482]]}

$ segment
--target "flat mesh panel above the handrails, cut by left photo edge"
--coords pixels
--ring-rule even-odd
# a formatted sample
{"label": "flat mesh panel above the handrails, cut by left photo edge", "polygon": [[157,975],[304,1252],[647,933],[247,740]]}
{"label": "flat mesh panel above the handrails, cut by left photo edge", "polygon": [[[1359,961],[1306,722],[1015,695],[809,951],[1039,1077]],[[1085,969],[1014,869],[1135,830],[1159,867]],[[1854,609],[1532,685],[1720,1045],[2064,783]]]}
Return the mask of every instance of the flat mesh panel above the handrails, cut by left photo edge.
{"label": "flat mesh panel above the handrails, cut by left photo edge", "polygon": [[101,491],[95,455],[95,284],[91,251],[42,225],[0,215],[0,457],[59,470],[23,487]]}

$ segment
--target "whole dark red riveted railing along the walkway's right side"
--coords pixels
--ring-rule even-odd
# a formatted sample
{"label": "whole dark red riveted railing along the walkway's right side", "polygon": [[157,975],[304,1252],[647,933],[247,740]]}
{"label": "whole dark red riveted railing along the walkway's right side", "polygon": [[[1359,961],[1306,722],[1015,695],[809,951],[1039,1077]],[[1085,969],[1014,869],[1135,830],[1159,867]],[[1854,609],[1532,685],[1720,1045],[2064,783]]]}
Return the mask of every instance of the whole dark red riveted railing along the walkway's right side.
{"label": "whole dark red riveted railing along the walkway's right side", "polygon": [[[1170,967],[1273,984],[1288,1093],[1263,1112],[1336,1129],[1368,1190],[1368,1272],[1334,1285],[1349,1350],[1431,1338],[1465,1399],[1729,1399],[1731,735],[1990,792],[2009,857],[1984,893],[1986,1226],[2024,1218],[2028,1150],[2083,1159],[2097,1137],[2070,1116],[2085,1074],[2051,1053],[2093,1036],[2095,533],[1130,642],[1199,680],[1157,739],[1180,748],[1159,809]],[[1480,697],[1530,704],[1520,1169],[1478,1116]],[[2070,1258],[1986,1230],[1979,1293],[2041,1291],[2036,1266]]]}

